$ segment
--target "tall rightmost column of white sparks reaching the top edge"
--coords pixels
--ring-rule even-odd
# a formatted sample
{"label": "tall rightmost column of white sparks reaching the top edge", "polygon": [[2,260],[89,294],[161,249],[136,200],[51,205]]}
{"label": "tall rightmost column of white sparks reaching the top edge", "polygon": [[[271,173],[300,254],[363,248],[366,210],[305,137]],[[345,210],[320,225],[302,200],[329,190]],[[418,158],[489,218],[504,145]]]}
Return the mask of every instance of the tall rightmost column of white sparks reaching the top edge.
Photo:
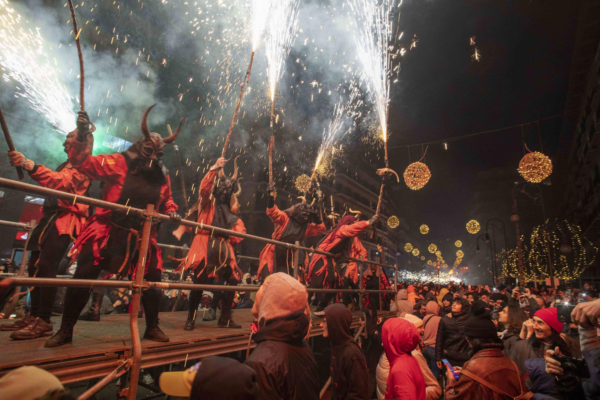
{"label": "tall rightmost column of white sparks reaching the top edge", "polygon": [[349,0],[350,22],[362,64],[367,94],[373,103],[383,141],[388,140],[388,106],[392,72],[392,21],[394,0]]}

